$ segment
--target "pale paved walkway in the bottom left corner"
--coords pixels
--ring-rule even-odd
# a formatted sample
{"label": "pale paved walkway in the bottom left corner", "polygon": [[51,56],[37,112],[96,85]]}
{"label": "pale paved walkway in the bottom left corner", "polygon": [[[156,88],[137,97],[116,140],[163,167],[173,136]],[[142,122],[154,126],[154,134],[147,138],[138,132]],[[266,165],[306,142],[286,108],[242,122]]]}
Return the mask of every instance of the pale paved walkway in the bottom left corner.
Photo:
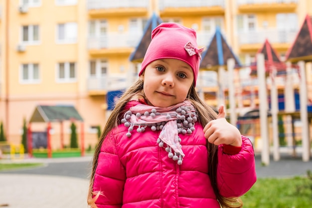
{"label": "pale paved walkway in the bottom left corner", "polygon": [[88,180],[47,175],[0,175],[0,207],[87,208]]}

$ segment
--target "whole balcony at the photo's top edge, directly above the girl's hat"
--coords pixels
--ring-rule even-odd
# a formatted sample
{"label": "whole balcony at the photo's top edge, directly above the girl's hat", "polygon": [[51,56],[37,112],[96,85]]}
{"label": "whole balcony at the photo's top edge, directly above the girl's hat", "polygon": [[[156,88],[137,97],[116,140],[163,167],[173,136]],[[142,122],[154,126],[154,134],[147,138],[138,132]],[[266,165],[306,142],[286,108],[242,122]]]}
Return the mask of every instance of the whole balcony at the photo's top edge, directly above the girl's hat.
{"label": "whole balcony at the photo's top edge, directly above the girl's hat", "polygon": [[159,0],[160,16],[223,15],[225,0]]}

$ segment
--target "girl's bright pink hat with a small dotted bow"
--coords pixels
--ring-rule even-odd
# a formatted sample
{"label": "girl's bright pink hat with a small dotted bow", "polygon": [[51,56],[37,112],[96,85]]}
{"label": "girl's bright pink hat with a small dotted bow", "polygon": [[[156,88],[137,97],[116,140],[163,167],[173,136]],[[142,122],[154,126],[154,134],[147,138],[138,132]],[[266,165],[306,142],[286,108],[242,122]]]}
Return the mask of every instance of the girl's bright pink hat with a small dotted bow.
{"label": "girl's bright pink hat with a small dotted bow", "polygon": [[194,29],[172,22],[161,23],[152,31],[152,41],[144,56],[139,76],[151,62],[162,58],[175,58],[192,67],[196,85],[203,49],[197,47]]}

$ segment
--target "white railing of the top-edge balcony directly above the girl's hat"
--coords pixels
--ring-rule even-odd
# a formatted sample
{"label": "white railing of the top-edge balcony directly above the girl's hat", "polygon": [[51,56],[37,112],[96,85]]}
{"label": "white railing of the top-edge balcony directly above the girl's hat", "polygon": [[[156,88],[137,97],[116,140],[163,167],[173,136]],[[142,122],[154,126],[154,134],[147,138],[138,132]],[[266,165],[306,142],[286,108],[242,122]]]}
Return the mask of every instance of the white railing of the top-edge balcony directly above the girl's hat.
{"label": "white railing of the top-edge balcony directly above the girl's hat", "polygon": [[224,0],[159,0],[160,10],[163,10],[166,7],[207,7],[207,6],[224,7]]}

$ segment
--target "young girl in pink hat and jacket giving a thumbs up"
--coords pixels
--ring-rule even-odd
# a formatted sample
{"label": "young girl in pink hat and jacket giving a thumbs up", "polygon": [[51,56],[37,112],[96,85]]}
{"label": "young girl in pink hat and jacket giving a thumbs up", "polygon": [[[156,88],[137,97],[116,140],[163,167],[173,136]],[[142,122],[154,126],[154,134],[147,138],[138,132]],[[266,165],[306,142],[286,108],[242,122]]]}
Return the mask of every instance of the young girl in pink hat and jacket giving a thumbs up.
{"label": "young girl in pink hat and jacket giving a thumbs up", "polygon": [[256,182],[251,142],[195,91],[193,29],[161,23],[139,80],[116,103],[93,158],[92,208],[239,208]]}

